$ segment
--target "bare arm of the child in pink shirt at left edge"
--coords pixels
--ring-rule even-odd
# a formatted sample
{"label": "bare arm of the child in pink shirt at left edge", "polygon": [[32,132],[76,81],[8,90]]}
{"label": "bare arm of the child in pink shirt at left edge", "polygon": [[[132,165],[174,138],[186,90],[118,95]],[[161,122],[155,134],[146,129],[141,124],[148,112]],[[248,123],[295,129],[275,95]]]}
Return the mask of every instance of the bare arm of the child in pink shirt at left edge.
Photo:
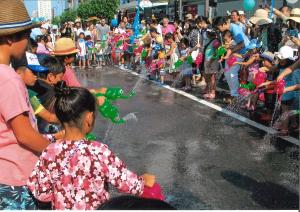
{"label": "bare arm of the child in pink shirt at left edge", "polygon": [[20,144],[35,151],[42,152],[50,142],[39,134],[29,121],[27,113],[22,113],[8,121]]}

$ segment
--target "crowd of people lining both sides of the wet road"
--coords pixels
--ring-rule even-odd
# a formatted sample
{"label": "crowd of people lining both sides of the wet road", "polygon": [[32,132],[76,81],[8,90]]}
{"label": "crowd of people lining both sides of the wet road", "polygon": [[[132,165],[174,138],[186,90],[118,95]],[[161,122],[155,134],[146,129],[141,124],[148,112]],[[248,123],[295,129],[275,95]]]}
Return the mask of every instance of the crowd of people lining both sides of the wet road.
{"label": "crowd of people lining both sides of the wet road", "polygon": [[[248,95],[243,106],[253,111],[258,100],[264,102],[266,119],[276,101],[281,113],[299,109],[299,8],[261,8],[250,19],[236,10],[213,20],[188,14],[160,24],[152,17],[141,20],[138,33],[126,16],[117,25],[102,18],[59,29],[33,24],[21,0],[1,1],[0,8],[1,209],[36,209],[39,201],[53,209],[97,209],[109,199],[107,183],[144,197],[156,184],[153,175],[129,171],[107,145],[86,139],[97,107],[108,104],[108,88],[82,87],[74,65],[80,71],[115,65],[145,72],[187,92],[202,84],[208,100],[216,98],[224,76],[228,104]],[[288,135],[299,123],[287,118],[276,127]]]}

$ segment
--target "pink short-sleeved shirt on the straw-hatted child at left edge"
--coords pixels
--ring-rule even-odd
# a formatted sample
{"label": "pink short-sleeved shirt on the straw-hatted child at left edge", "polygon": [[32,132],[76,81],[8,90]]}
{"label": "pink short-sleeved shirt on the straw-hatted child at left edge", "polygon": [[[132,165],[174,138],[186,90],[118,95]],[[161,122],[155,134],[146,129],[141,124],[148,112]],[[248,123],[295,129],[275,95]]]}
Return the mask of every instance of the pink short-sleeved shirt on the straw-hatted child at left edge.
{"label": "pink short-sleeved shirt on the straw-hatted child at left edge", "polygon": [[[31,125],[37,129],[23,80],[11,67],[0,64],[0,184],[24,186],[38,157],[19,144],[9,121],[27,113]],[[5,170],[5,171],[4,171]]]}

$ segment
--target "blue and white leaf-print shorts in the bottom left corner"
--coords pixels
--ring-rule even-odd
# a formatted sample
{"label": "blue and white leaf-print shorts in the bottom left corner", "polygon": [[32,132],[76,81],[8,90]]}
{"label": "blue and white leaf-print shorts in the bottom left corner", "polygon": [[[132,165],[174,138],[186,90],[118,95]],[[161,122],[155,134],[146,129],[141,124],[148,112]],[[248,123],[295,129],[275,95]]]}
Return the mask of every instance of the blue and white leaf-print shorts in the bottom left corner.
{"label": "blue and white leaf-print shorts in the bottom left corner", "polygon": [[27,186],[0,184],[0,210],[35,210],[36,202]]}

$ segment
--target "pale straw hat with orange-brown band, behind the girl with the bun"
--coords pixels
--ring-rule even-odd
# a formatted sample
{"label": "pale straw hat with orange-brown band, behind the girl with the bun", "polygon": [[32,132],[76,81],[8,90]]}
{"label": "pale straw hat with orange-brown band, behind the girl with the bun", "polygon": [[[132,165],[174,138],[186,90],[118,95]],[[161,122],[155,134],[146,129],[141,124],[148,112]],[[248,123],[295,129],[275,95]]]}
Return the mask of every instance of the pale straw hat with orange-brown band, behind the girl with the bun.
{"label": "pale straw hat with orange-brown band, behind the girl with the bun", "polygon": [[70,55],[79,52],[71,38],[60,38],[55,43],[54,55]]}

